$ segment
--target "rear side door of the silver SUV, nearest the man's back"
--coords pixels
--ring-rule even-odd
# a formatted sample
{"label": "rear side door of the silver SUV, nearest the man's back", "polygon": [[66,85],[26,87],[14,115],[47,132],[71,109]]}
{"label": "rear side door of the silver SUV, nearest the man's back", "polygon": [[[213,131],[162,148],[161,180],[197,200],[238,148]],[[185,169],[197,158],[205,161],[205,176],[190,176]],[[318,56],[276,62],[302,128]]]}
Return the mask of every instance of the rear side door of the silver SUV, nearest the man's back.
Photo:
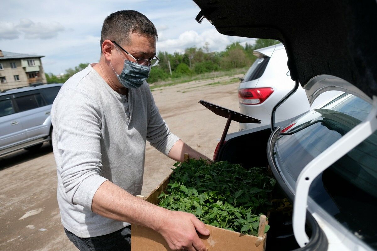
{"label": "rear side door of the silver SUV, nearest the man's back", "polygon": [[14,94],[14,100],[20,111],[20,120],[29,140],[46,137],[50,124],[48,117],[51,105],[42,97],[40,90],[25,91]]}

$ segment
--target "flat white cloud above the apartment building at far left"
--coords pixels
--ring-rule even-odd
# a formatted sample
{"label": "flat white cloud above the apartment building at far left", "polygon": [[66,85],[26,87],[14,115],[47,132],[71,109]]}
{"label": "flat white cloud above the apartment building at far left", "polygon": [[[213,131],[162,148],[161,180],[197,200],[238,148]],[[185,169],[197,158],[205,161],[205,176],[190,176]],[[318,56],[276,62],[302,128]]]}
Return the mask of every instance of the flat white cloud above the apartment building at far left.
{"label": "flat white cloud above the apartment building at far left", "polygon": [[0,39],[11,40],[23,33],[26,39],[50,39],[58,36],[64,27],[58,22],[34,23],[28,18],[22,18],[20,23],[0,22]]}

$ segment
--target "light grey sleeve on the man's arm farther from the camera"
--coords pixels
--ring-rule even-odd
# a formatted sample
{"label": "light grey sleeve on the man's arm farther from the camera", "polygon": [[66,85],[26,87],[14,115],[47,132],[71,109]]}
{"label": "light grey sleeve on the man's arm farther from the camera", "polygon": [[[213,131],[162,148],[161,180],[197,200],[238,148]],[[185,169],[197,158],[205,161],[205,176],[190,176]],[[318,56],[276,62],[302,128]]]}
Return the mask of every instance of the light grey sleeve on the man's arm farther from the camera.
{"label": "light grey sleeve on the man's arm farther from the camera", "polygon": [[169,127],[158,111],[152,94],[151,97],[151,112],[147,126],[147,140],[151,146],[163,154],[168,155],[170,149],[172,149],[179,138],[170,132]]}

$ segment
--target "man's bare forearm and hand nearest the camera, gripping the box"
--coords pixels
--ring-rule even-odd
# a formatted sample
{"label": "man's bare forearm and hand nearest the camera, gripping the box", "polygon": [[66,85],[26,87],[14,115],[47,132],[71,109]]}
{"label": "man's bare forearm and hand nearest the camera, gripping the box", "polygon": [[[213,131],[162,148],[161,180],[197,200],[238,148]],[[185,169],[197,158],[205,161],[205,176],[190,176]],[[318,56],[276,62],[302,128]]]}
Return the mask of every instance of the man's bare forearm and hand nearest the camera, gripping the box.
{"label": "man's bare forearm and hand nearest the camera, gripping the box", "polygon": [[138,199],[110,181],[97,189],[92,211],[117,221],[130,222],[158,231],[173,250],[206,250],[197,233],[210,234],[193,214],[170,211]]}

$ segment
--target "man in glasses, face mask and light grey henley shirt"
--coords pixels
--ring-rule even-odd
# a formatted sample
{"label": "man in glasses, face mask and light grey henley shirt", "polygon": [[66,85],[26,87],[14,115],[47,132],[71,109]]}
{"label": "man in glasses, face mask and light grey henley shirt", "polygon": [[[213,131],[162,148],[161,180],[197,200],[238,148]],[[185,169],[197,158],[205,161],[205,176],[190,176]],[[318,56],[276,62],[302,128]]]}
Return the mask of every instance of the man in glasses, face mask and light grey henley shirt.
{"label": "man in glasses, face mask and light grey henley shirt", "polygon": [[130,223],[158,231],[172,249],[205,250],[196,231],[209,231],[193,214],[135,197],[146,140],[173,160],[207,158],[169,131],[154,103],[145,79],[159,61],[156,39],[143,14],[109,15],[100,62],[72,76],[52,106],[61,222],[80,250],[130,250]]}

